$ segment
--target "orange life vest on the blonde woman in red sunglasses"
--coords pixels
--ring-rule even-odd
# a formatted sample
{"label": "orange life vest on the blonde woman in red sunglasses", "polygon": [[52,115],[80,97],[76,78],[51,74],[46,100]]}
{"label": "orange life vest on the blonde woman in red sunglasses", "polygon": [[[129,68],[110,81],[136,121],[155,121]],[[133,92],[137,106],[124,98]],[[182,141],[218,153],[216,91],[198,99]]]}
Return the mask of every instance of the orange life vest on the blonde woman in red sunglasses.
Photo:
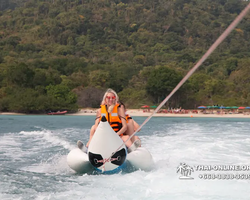
{"label": "orange life vest on the blonde woman in red sunglasses", "polygon": [[122,121],[118,115],[118,107],[120,104],[116,104],[111,113],[108,113],[107,106],[101,105],[101,116],[105,116],[110,126],[115,132],[118,132],[122,128]]}

